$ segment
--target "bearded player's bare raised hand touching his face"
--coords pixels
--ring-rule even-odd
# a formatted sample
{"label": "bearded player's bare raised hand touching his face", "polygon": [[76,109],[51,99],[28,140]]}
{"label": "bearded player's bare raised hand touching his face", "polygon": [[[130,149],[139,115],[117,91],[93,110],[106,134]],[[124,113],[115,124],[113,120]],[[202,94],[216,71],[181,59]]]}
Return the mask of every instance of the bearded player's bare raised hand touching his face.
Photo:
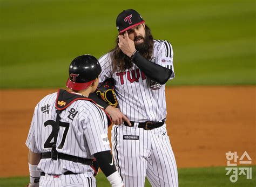
{"label": "bearded player's bare raised hand touching his face", "polygon": [[128,57],[131,57],[133,52],[136,51],[134,41],[129,38],[128,32],[125,31],[124,35],[118,36],[119,43],[118,46],[120,50],[123,51]]}

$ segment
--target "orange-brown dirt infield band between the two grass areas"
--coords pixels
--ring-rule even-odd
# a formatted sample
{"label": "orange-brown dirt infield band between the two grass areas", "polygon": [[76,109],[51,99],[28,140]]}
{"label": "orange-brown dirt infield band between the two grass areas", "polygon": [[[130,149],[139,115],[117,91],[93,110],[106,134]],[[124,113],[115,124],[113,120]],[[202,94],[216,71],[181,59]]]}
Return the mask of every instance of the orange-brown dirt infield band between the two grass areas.
{"label": "orange-brown dirt infield band between the two grass areas", "polygon": [[[0,91],[0,177],[28,175],[33,108],[56,89]],[[167,126],[179,168],[226,165],[227,151],[256,161],[255,86],[166,88]]]}

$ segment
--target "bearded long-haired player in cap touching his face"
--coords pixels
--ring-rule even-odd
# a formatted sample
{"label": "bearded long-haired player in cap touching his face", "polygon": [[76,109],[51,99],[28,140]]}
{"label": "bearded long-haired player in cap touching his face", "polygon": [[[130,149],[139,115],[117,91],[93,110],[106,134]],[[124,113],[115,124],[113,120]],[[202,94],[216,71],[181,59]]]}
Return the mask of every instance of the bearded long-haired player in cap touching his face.
{"label": "bearded long-haired player in cap touching his face", "polygon": [[[135,10],[121,12],[116,47],[99,59],[99,81],[113,78],[118,108],[105,105],[114,161],[125,186],[178,186],[177,165],[166,133],[165,83],[174,78],[173,51],[153,39]],[[129,121],[130,120],[130,121]]]}

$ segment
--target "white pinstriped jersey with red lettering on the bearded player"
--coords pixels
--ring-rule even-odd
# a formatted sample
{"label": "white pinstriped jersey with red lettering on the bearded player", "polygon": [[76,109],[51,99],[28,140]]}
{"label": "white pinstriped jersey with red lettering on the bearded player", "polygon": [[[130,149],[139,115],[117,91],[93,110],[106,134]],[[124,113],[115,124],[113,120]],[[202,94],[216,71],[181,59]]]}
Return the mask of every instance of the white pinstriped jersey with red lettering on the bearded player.
{"label": "white pinstriped jersey with red lettering on the bearded player", "polygon": [[[151,61],[158,65],[170,68],[174,78],[173,51],[171,44],[166,40],[154,40]],[[110,53],[99,59],[102,66],[100,82],[112,77],[117,84],[115,92],[120,111],[130,121],[161,121],[166,116],[165,85],[160,85],[147,78],[139,68],[133,64],[130,70],[114,72]]]}

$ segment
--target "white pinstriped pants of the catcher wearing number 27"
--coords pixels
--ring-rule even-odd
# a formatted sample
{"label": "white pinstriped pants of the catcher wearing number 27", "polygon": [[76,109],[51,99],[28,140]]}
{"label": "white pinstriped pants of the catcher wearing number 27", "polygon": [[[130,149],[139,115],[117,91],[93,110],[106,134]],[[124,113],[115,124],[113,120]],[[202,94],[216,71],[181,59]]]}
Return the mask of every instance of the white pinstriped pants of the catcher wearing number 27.
{"label": "white pinstriped pants of the catcher wearing number 27", "polygon": [[96,187],[95,177],[88,177],[85,174],[76,175],[47,175],[40,177],[39,187]]}

